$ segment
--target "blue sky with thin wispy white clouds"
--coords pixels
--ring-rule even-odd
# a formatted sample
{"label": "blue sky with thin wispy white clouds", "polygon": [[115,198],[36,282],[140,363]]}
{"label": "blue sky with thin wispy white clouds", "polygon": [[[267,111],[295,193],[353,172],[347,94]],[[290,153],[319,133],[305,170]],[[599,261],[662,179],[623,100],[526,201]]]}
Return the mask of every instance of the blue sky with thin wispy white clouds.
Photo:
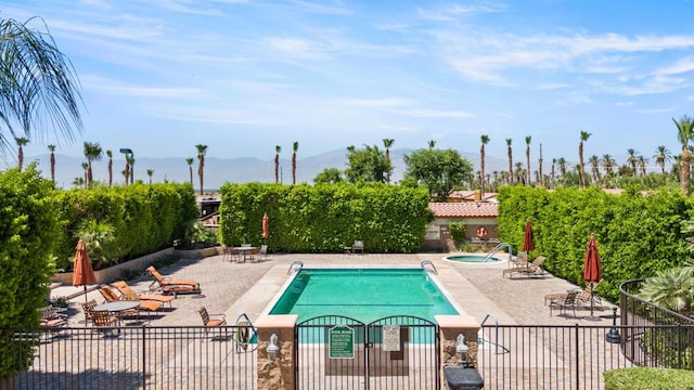
{"label": "blue sky with thin wispy white clouds", "polygon": [[[524,160],[680,153],[694,115],[691,1],[4,1],[41,16],[81,82],[82,142],[136,157],[272,159],[349,145]],[[38,24],[35,24],[39,27]],[[27,155],[55,139],[34,139]],[[652,164],[653,165],[653,164]]]}

